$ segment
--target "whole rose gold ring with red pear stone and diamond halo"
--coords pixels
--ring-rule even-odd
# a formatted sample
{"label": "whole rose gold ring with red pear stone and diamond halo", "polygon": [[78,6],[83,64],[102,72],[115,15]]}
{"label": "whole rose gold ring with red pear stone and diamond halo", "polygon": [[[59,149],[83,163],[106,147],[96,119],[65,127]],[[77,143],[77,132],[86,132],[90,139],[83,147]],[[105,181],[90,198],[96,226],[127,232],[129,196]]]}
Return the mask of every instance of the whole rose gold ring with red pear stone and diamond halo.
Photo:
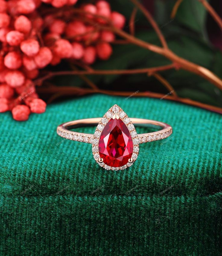
{"label": "whole rose gold ring with red pear stone and diamond halo", "polygon": [[[151,133],[137,134],[135,124],[155,125],[162,129]],[[94,134],[79,133],[71,129],[97,125]],[[129,118],[114,105],[102,118],[89,118],[63,123],[57,127],[59,136],[92,144],[96,162],[106,170],[124,170],[135,162],[139,144],[165,139],[172,134],[172,127],[159,121]]]}

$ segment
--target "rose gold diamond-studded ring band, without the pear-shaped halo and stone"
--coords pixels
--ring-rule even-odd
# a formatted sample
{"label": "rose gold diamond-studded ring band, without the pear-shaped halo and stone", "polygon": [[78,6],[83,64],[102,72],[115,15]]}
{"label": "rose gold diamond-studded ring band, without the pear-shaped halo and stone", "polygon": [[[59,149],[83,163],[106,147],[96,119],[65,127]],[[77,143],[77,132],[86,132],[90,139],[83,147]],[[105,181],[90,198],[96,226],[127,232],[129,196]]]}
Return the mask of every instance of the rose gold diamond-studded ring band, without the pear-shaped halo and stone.
{"label": "rose gold diamond-studded ring band, without the pear-shaped halo and stone", "polygon": [[[84,127],[84,126],[95,126],[100,122],[100,120],[101,118],[88,118],[88,119],[74,120],[71,122],[63,123],[57,127],[57,133],[59,136],[65,139],[92,144],[93,143],[92,140],[94,136],[93,134],[79,133],[75,131],[70,131],[70,129],[74,129],[77,127]],[[172,134],[172,127],[167,123],[148,120],[148,119],[141,119],[141,118],[130,118],[130,120],[132,121],[133,124],[155,125],[155,126],[160,126],[162,128],[162,130],[159,130],[156,132],[138,134],[139,143],[165,139],[168,136],[170,136],[170,134]]]}

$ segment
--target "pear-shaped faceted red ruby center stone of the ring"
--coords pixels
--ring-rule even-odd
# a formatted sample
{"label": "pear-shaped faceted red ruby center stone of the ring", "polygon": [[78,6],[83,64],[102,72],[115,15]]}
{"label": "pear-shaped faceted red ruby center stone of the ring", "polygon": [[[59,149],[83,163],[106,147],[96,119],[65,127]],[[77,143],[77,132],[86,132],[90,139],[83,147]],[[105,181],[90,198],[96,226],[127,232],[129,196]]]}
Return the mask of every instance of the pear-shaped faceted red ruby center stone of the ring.
{"label": "pear-shaped faceted red ruby center stone of the ring", "polygon": [[99,153],[103,162],[112,167],[123,166],[131,158],[132,137],[120,118],[111,118],[104,127],[99,140]]}

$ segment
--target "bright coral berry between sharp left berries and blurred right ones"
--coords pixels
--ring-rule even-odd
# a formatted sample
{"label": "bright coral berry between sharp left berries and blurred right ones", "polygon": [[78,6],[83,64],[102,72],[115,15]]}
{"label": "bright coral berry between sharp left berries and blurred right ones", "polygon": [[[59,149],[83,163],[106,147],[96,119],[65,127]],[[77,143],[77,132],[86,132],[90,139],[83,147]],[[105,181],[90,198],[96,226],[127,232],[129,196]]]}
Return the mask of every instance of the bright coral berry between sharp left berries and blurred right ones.
{"label": "bright coral berry between sharp left berries and blurred right ones", "polygon": [[55,43],[54,52],[60,58],[69,58],[72,55],[72,45],[66,39],[59,39]]}

